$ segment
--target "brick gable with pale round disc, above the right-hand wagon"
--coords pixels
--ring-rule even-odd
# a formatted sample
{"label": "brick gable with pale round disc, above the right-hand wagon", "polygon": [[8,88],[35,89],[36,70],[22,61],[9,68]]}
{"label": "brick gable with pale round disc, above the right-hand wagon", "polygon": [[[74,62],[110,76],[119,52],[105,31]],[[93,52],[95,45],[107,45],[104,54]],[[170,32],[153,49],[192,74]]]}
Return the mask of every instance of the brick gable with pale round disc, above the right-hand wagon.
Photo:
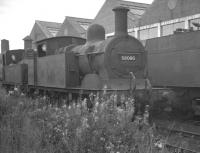
{"label": "brick gable with pale round disc, above the right-hand wagon", "polygon": [[140,26],[200,13],[200,0],[154,0],[142,15]]}

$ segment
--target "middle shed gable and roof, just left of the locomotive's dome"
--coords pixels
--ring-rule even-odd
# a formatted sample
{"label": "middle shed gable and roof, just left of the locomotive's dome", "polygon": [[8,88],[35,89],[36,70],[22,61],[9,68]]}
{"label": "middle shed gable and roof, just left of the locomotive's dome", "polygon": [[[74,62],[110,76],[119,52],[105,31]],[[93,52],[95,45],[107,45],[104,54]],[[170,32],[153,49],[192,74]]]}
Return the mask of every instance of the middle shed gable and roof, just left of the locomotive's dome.
{"label": "middle shed gable and roof, just left of the locomotive's dome", "polygon": [[85,37],[86,30],[91,23],[92,19],[66,16],[57,36]]}

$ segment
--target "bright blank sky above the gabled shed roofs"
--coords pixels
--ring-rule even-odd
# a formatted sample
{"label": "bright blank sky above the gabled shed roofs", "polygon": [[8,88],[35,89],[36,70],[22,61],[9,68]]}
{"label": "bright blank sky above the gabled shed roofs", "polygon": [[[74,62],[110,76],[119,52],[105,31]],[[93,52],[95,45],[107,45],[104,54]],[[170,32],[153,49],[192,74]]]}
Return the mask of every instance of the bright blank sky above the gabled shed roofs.
{"label": "bright blank sky above the gabled shed roofs", "polygon": [[[152,3],[153,0],[128,0]],[[0,40],[21,49],[35,20],[59,22],[65,16],[94,19],[105,0],[0,0]]]}

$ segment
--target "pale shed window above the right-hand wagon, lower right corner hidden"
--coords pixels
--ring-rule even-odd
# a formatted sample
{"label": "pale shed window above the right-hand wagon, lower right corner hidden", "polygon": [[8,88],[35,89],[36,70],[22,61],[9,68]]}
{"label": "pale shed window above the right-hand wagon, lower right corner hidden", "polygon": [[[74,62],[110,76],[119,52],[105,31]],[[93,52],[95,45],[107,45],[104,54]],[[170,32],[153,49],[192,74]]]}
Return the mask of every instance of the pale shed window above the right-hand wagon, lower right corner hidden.
{"label": "pale shed window above the right-hand wagon, lower right corner hidden", "polygon": [[162,36],[172,35],[177,29],[184,29],[184,22],[177,22],[173,24],[167,24],[162,26]]}

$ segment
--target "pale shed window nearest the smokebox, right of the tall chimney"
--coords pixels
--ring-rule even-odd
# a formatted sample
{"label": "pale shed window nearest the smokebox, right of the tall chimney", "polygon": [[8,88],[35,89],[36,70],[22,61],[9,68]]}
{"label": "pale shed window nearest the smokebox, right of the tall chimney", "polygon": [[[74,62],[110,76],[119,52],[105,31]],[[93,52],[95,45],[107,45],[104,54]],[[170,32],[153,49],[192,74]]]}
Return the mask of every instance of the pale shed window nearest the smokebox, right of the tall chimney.
{"label": "pale shed window nearest the smokebox, right of the tall chimney", "polygon": [[158,27],[139,30],[139,39],[146,40],[158,37]]}

